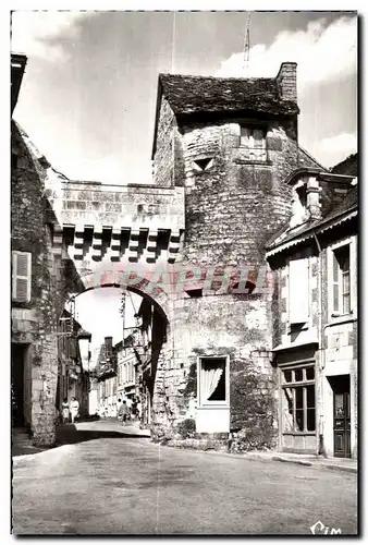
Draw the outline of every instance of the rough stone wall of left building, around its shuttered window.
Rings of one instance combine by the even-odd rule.
[[[45,196],[46,171],[12,123],[12,250],[32,253],[32,299],[12,305],[12,342],[27,344],[24,409],[37,445],[54,444],[57,325],[70,267],[52,253],[54,216]],[[73,289],[73,287],[71,287]]]

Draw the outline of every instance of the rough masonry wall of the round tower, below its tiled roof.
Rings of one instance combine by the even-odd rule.
[[[157,170],[173,159],[165,140],[172,138],[169,111],[163,101]],[[175,183],[185,186],[181,252],[185,265],[265,268],[265,244],[289,219],[291,194],[283,181],[297,167],[296,118],[261,120],[267,128],[263,162],[248,161],[240,147],[241,124],[247,122],[249,119],[234,117],[180,121],[177,169],[184,179]],[[177,150],[177,133],[175,146]],[[242,431],[247,449],[271,448],[277,441],[277,377],[270,353],[271,311],[277,298],[271,289],[266,294],[213,293],[209,290],[193,299],[184,295],[173,303],[172,350],[161,378],[161,411],[170,407],[172,425],[162,431],[162,421],[157,437],[177,439],[177,422],[187,417],[189,400],[197,397],[198,355],[228,355],[230,429]]]

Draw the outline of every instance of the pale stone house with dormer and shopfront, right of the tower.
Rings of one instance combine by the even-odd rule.
[[[297,204],[268,244],[284,451],[357,456],[356,162],[294,171],[286,183]]]

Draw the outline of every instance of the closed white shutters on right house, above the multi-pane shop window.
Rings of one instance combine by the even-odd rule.
[[[309,316],[308,259],[295,259],[289,264],[289,319],[291,324],[304,324]]]

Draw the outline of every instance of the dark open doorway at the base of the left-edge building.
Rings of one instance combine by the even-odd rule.
[[[12,426],[23,427],[24,419],[24,362],[26,344],[12,342]]]

